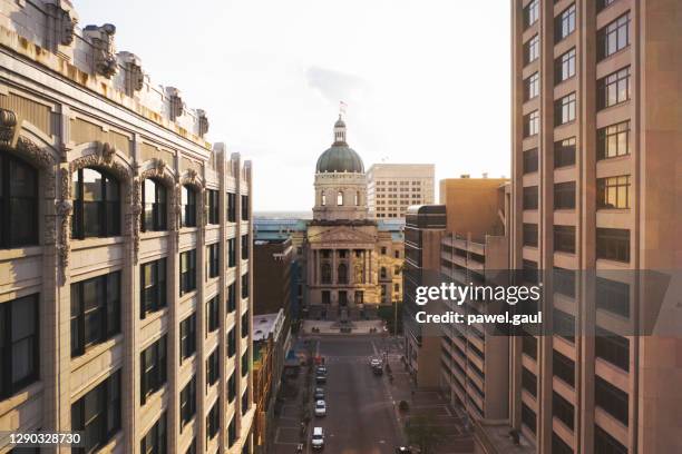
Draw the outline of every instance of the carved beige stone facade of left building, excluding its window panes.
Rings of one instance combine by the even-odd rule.
[[[205,112],[187,108],[177,89],[153,85],[134,55],[116,53],[114,26],[80,30],[76,21],[66,0],[0,1],[0,158],[25,162],[38,180],[37,218],[31,224],[37,240],[0,249],[3,312],[10,305],[20,310],[13,302],[26,296],[35,295],[38,302],[37,373],[25,386],[3,385],[0,431],[69,432],[80,399],[120,371],[115,405],[119,426],[98,448],[140,452],[143,438],[164,414],[168,452],[184,453],[193,443],[197,452],[250,452],[251,162],[230,155],[222,144],[208,144]],[[119,185],[117,235],[71,237],[75,178],[82,169],[95,169]],[[158,208],[166,225],[158,231],[140,228],[146,179],[167,194]],[[192,210],[182,205],[184,187],[196,197],[192,227],[181,223],[183,210]],[[218,197],[210,203],[210,194]],[[216,244],[214,273],[208,272],[207,246]],[[228,245],[243,249],[234,266]],[[187,276],[194,274],[195,285],[181,292],[185,277],[181,257],[189,250],[195,251],[195,266]],[[166,260],[164,307],[140,316],[142,265],[160,258]],[[119,327],[72,354],[78,338],[75,289],[113,273],[120,278],[119,313],[107,317],[119,318]],[[240,297],[227,309],[231,286]],[[218,319],[208,332],[207,302],[214,298]],[[195,352],[181,361],[185,340],[181,322],[191,314],[196,316]],[[0,336],[7,336],[6,329],[7,324],[0,327]],[[233,330],[236,345],[230,354],[227,338]],[[144,398],[140,355],[162,336],[166,336],[166,378]],[[12,344],[4,352],[17,356],[19,347]],[[206,359],[215,352],[221,357],[220,379],[207,385]],[[195,412],[181,424],[181,391],[192,379]],[[228,389],[232,382],[234,389]],[[215,436],[207,436],[206,416],[215,405],[220,427]],[[0,453],[9,452],[7,442],[0,440]]]

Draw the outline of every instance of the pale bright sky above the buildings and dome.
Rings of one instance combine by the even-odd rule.
[[[206,110],[210,141],[253,161],[256,211],[312,208],[340,101],[366,168],[510,175],[508,0],[74,3],[80,27],[114,23],[118,51]]]

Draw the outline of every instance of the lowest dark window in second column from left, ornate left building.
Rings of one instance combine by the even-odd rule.
[[[76,453],[92,453],[120,431],[120,369],[71,405],[71,430],[84,432],[84,446]]]

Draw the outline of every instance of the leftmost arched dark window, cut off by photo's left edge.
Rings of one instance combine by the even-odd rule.
[[[38,244],[38,171],[0,151],[0,248]]]

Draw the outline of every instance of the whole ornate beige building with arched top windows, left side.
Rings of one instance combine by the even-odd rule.
[[[114,26],[0,11],[0,452],[251,452],[251,164]]]

